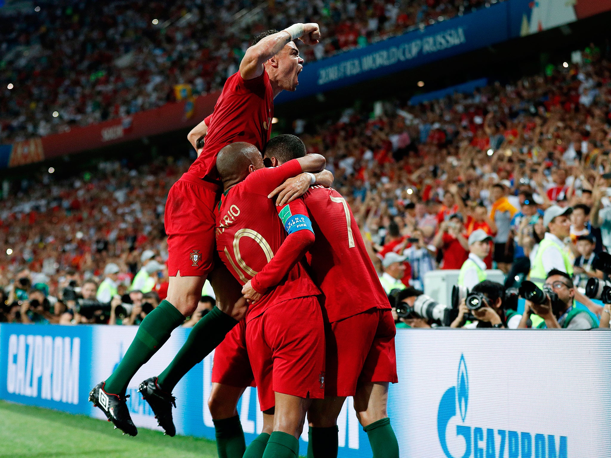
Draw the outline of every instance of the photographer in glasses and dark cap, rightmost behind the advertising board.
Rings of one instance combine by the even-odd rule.
[[[544,320],[539,324],[533,322],[537,329],[543,329],[544,326],[547,329],[577,330],[596,327],[596,322],[587,311],[574,307],[576,290],[571,275],[558,269],[552,269],[547,274],[543,292],[545,293],[543,304],[535,304],[531,300],[526,300],[524,314],[519,325],[520,329],[529,327],[529,319],[531,319],[532,314],[536,314]]]

